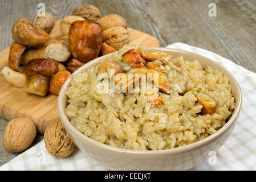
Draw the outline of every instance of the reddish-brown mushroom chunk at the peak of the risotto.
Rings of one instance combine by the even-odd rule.
[[[125,52],[122,57],[131,68],[145,67],[143,64],[143,59],[135,49],[130,49],[129,51]]]

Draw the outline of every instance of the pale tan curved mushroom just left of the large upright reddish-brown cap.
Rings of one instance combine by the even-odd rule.
[[[59,27],[62,35],[68,35],[71,24],[78,20],[85,20],[85,19],[82,18],[81,16],[75,16],[75,15],[65,16],[60,22],[60,27]]]

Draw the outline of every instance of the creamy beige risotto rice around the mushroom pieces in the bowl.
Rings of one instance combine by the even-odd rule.
[[[142,43],[131,42],[103,61],[119,63],[125,72],[131,67],[122,59],[124,52]],[[81,133],[98,142],[131,150],[164,150],[185,146],[216,133],[234,109],[234,97],[224,72],[202,68],[197,60],[175,57],[162,64],[170,83],[170,94],[152,90],[161,98],[160,106],[149,102],[148,94],[97,92],[97,66],[73,74],[68,88],[66,114]],[[193,89],[186,89],[186,75]],[[213,114],[202,114],[196,94],[204,93],[216,101]]]

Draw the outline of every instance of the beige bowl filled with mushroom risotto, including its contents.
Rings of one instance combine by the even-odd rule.
[[[241,90],[196,53],[131,42],[74,72],[58,98],[76,145],[109,169],[188,169],[231,134]]]

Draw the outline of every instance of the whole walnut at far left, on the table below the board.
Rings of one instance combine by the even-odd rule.
[[[3,147],[9,152],[25,151],[36,136],[35,124],[29,118],[9,121],[3,133]]]

